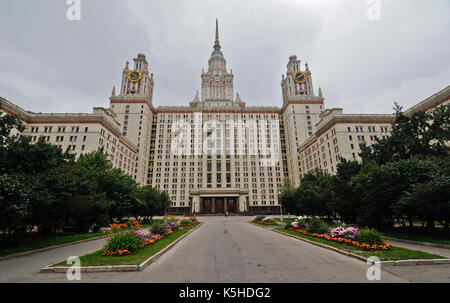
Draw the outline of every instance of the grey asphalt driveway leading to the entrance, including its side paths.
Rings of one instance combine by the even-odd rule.
[[[80,282],[374,282],[366,278],[369,265],[364,262],[263,230],[249,220],[203,217],[206,224],[143,271],[82,273]],[[58,254],[81,255],[101,248],[102,241],[0,261],[0,281],[72,283],[65,274],[38,271],[65,259]],[[385,267],[379,282],[449,282],[449,273],[447,265]]]

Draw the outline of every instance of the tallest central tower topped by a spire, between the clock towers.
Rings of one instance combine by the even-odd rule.
[[[205,71],[202,70],[201,75],[201,101],[215,101],[214,105],[221,105],[222,102],[233,101],[233,74],[227,71],[227,61],[223,57],[223,53],[220,48],[219,24],[216,19],[216,39],[214,41],[214,50],[208,61],[208,71],[205,73]]]

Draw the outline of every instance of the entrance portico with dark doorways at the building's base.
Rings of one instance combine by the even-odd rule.
[[[248,210],[248,190],[234,188],[202,188],[190,190],[192,212],[224,214]]]

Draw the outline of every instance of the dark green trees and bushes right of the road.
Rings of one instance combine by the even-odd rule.
[[[409,116],[397,104],[395,110],[391,136],[362,146],[362,163],[342,159],[335,176],[315,171],[298,188],[284,186],[285,209],[379,229],[439,222],[448,232],[450,106]]]

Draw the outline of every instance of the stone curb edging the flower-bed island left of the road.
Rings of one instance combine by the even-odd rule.
[[[164,247],[161,251],[157,252],[155,255],[149,257],[147,260],[142,262],[139,265],[101,265],[101,266],[80,266],[80,267],[73,267],[73,266],[55,266],[51,267],[52,264],[47,265],[46,267],[42,268],[39,272],[40,273],[66,273],[68,269],[72,268],[79,268],[80,272],[83,273],[91,273],[91,272],[130,272],[130,271],[141,271],[148,265],[150,265],[153,261],[158,259],[160,256],[162,256],[164,253],[166,253],[169,249],[175,246],[179,241],[184,239],[186,236],[191,234],[193,231],[199,229],[201,226],[203,226],[205,223],[201,222],[197,227],[190,229],[187,233],[176,239],[174,242],[170,243],[168,246]]]

